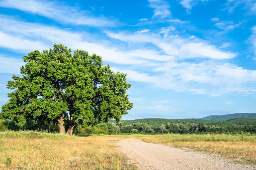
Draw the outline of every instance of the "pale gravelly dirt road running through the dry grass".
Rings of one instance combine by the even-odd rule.
[[[222,158],[220,155],[193,152],[139,139],[118,140],[116,145],[139,169],[256,169]]]

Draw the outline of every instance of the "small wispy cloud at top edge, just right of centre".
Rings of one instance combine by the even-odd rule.
[[[148,0],[150,8],[154,9],[153,17],[167,18],[170,17],[169,5],[163,0]]]

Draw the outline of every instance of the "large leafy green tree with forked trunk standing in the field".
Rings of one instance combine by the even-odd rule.
[[[1,117],[22,125],[26,120],[56,120],[60,133],[72,135],[77,123],[95,124],[109,118],[120,121],[133,104],[126,90],[126,74],[103,67],[102,58],[84,50],[54,45],[43,53],[35,50],[23,57],[20,76],[13,75],[7,88],[9,102]],[[67,131],[64,124],[67,124]]]

